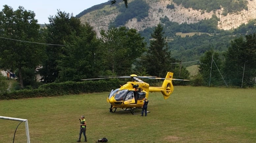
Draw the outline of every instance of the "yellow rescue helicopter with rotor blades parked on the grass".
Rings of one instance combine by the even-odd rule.
[[[104,77],[104,76],[103,76]],[[167,72],[165,78],[158,78],[152,76],[137,76],[132,74],[130,76],[112,76],[107,78],[96,78],[96,79],[109,79],[109,78],[131,78],[132,81],[127,82],[122,85],[120,88],[115,90],[112,89],[110,94],[108,95],[107,102],[111,104],[110,112],[120,112],[120,111],[131,111],[134,115],[134,110],[141,109],[143,105],[144,98],[148,98],[149,92],[161,92],[163,94],[163,98],[167,99],[173,92],[173,84],[172,80],[180,80],[173,79],[173,73]],[[161,87],[151,87],[148,83],[140,80],[141,79],[161,79],[164,80]],[[84,80],[96,80],[96,79],[84,79]],[[188,81],[188,80],[185,80]],[[116,111],[118,108],[122,110]],[[113,109],[115,109],[113,111]]]

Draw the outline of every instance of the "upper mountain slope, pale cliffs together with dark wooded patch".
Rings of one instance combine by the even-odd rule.
[[[147,7],[149,7],[148,11],[142,11],[143,16],[138,16],[140,13],[137,11]],[[132,8],[137,9],[121,10],[126,9],[122,0],[118,0],[114,5],[108,1],[82,11],[77,17],[82,22],[90,23],[98,33],[101,29],[108,29],[114,21],[115,23],[125,22],[124,26],[141,31],[147,27],[156,26],[160,18],[165,16],[172,22],[191,24],[209,19],[215,14],[219,18],[217,27],[224,30],[237,28],[242,23],[247,24],[249,20],[256,18],[256,1],[251,0],[130,0],[128,9]],[[122,21],[120,17],[125,20]]]

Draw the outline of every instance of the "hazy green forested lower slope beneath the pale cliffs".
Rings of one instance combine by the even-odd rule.
[[[161,24],[164,26],[165,36],[168,40],[168,46],[171,55],[182,61],[199,60],[200,57],[208,50],[219,52],[219,56],[224,60],[225,53],[230,46],[231,40],[242,35],[253,34],[256,32],[256,20],[251,20],[248,24],[242,24],[234,30],[221,30],[216,27],[218,18],[213,15],[211,19],[202,20],[195,24],[178,24],[170,22],[167,17],[161,19]],[[151,33],[154,27],[146,28],[140,31],[143,37],[146,37],[149,43]],[[176,35],[178,32],[183,32],[185,37]],[[198,34],[202,32],[205,34]],[[192,33],[192,35],[191,35]],[[187,65],[191,65],[190,63]]]

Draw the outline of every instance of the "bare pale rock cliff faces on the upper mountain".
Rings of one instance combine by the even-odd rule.
[[[130,0],[133,1],[133,0]],[[128,1],[128,3],[130,2]],[[197,23],[203,19],[209,19],[213,14],[220,19],[218,28],[229,30],[239,27],[241,24],[247,24],[249,20],[256,19],[256,0],[248,0],[248,10],[242,10],[236,13],[228,13],[226,16],[222,15],[223,8],[215,12],[206,12],[202,10],[193,10],[192,8],[184,8],[182,5],[176,5],[172,0],[144,0],[149,6],[148,17],[142,19],[140,22],[136,18],[130,19],[126,23],[126,27],[135,28],[141,31],[147,27],[154,27],[160,22],[160,18],[167,16],[170,21],[181,23]],[[175,9],[167,9],[167,5],[174,4]],[[161,9],[161,10],[159,10]],[[80,17],[82,23],[88,22],[94,27],[98,33],[101,29],[107,30],[111,21],[114,21],[120,12],[115,6],[106,5],[103,9],[97,9],[86,13]]]

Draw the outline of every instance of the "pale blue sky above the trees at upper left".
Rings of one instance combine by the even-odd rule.
[[[66,13],[73,13],[73,16],[76,16],[85,9],[107,1],[108,0],[1,0],[0,10],[2,11],[4,5],[10,6],[14,10],[22,6],[26,10],[35,12],[35,19],[38,20],[38,24],[44,24],[49,23],[48,17],[50,15],[54,16],[57,14],[57,9],[65,11]]]

